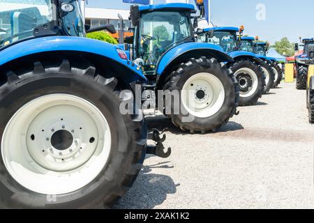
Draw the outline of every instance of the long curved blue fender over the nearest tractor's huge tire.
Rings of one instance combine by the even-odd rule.
[[[0,66],[3,64],[20,59],[23,56],[38,54],[43,52],[73,51],[96,54],[104,59],[112,61],[114,66],[121,67],[121,75],[126,77],[127,82],[133,82],[137,79],[146,81],[140,67],[127,59],[121,59],[117,45],[105,43],[99,40],[89,38],[80,38],[73,36],[50,36],[43,38],[34,38],[21,43],[17,43],[0,51]],[[119,74],[117,74],[119,75]]]

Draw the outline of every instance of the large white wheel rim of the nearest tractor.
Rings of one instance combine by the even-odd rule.
[[[3,132],[1,153],[6,169],[22,186],[57,195],[91,183],[105,167],[111,143],[107,120],[94,105],[74,95],[51,94],[31,100],[13,115]]]

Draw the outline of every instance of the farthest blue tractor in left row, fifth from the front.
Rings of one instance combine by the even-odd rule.
[[[258,38],[255,38],[255,40],[258,40]],[[254,42],[254,50],[255,54],[260,54],[262,56],[267,56],[267,52],[269,49],[269,44],[267,42],[262,41],[255,41]],[[281,80],[283,79],[283,66],[284,62],[278,61],[276,58],[272,58],[267,56],[269,61],[271,61],[271,68],[275,73],[275,79],[274,79],[274,89],[281,84]]]

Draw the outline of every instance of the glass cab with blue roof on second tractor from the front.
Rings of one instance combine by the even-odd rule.
[[[191,4],[167,3],[131,6],[130,18],[135,26],[133,60],[146,75],[154,75],[160,58],[173,47],[193,42]]]

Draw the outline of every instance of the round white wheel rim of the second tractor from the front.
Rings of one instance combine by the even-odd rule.
[[[225,89],[220,80],[207,72],[190,77],[181,91],[181,102],[193,116],[208,118],[216,114],[225,101]]]

